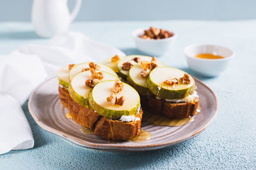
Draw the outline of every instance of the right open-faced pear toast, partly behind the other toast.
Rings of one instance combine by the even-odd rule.
[[[197,113],[199,98],[193,77],[164,66],[156,57],[126,56],[118,63],[118,74],[140,93],[144,110],[167,118],[188,118]]]

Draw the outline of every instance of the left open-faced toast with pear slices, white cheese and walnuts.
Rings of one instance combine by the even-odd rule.
[[[107,140],[140,135],[140,95],[100,63],[69,65],[58,71],[61,103],[74,121]]]

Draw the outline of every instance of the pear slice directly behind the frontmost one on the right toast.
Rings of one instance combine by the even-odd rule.
[[[151,96],[152,92],[147,87],[147,77],[141,77],[143,68],[140,63],[132,66],[129,70],[127,82],[140,93],[140,95]]]

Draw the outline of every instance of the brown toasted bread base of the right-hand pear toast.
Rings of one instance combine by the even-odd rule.
[[[171,103],[156,98],[141,96],[143,109],[154,114],[162,114],[166,118],[188,118],[197,114],[196,109],[199,106],[199,98],[195,98],[193,102]]]

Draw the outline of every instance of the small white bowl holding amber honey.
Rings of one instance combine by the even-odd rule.
[[[196,58],[197,54],[210,53],[223,56],[221,59]],[[214,77],[228,68],[234,52],[220,45],[189,45],[184,49],[189,68],[207,77]]]

